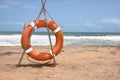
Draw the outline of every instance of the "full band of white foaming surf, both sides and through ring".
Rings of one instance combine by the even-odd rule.
[[[55,37],[51,36],[53,45]],[[47,35],[32,35],[31,44],[33,46],[49,45]],[[20,46],[21,35],[0,35],[0,46]],[[64,36],[64,45],[110,45],[119,46],[120,36]]]

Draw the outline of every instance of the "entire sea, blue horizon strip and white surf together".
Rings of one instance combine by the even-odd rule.
[[[21,46],[22,32],[0,32],[0,46]],[[50,45],[46,32],[34,32],[32,46]],[[52,44],[55,36],[51,33]],[[113,32],[64,32],[64,45],[79,46],[120,46],[120,33]]]

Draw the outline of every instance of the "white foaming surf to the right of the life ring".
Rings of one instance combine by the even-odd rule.
[[[120,36],[66,36],[66,45],[120,45]]]

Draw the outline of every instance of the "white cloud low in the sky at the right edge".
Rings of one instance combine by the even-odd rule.
[[[102,23],[108,24],[108,25],[115,25],[120,26],[120,19],[112,18],[112,19],[103,19]]]

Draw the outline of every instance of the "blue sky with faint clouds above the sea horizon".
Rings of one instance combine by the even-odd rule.
[[[40,9],[41,0],[0,0],[0,32],[22,31]],[[46,9],[64,32],[120,32],[120,0],[47,0]]]

